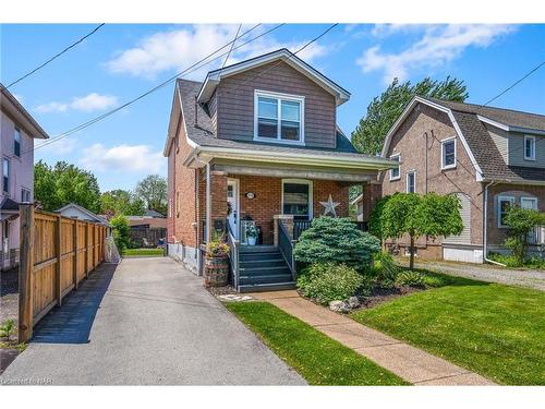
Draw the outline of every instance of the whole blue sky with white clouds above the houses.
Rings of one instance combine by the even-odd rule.
[[[254,25],[242,25],[240,33]],[[242,44],[275,25],[261,25]],[[294,51],[329,24],[287,24],[240,47],[227,64],[281,47]],[[0,25],[0,79],[9,84],[96,25]],[[239,25],[106,24],[10,88],[50,136],[100,116],[174,76],[231,41]],[[348,89],[338,124],[349,135],[393,77],[463,80],[469,103],[483,104],[545,60],[545,25],[340,24],[299,57]],[[227,50],[227,49],[226,49]],[[223,50],[225,51],[225,50]],[[223,58],[184,77],[202,81]],[[134,189],[166,176],[162,148],[173,83],[49,146],[35,160],[65,160],[92,171],[100,189]],[[545,67],[493,106],[545,113]],[[39,142],[38,142],[39,143]]]

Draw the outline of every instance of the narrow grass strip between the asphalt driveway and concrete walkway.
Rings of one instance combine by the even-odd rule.
[[[404,385],[389,371],[268,302],[227,308],[312,385]]]

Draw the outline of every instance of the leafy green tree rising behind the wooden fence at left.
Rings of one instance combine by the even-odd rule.
[[[75,203],[90,212],[100,210],[100,190],[95,176],[65,161],[53,167],[38,161],[34,167],[34,196],[46,210]]]

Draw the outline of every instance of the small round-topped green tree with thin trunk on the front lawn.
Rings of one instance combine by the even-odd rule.
[[[382,208],[380,230],[383,239],[397,239],[409,234],[410,263],[414,268],[414,241],[421,236],[458,236],[463,222],[460,200],[452,194],[396,193]]]

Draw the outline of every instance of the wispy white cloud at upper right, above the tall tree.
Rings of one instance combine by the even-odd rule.
[[[409,27],[414,28],[417,27]],[[383,70],[386,83],[395,76],[405,80],[411,70],[440,67],[460,57],[468,47],[485,48],[516,29],[514,26],[499,24],[449,24],[420,28],[424,29],[422,38],[403,51],[383,52],[380,46],[376,45],[365,50],[356,63],[363,72]],[[407,25],[380,27],[376,35],[389,35],[404,29],[408,29]]]

